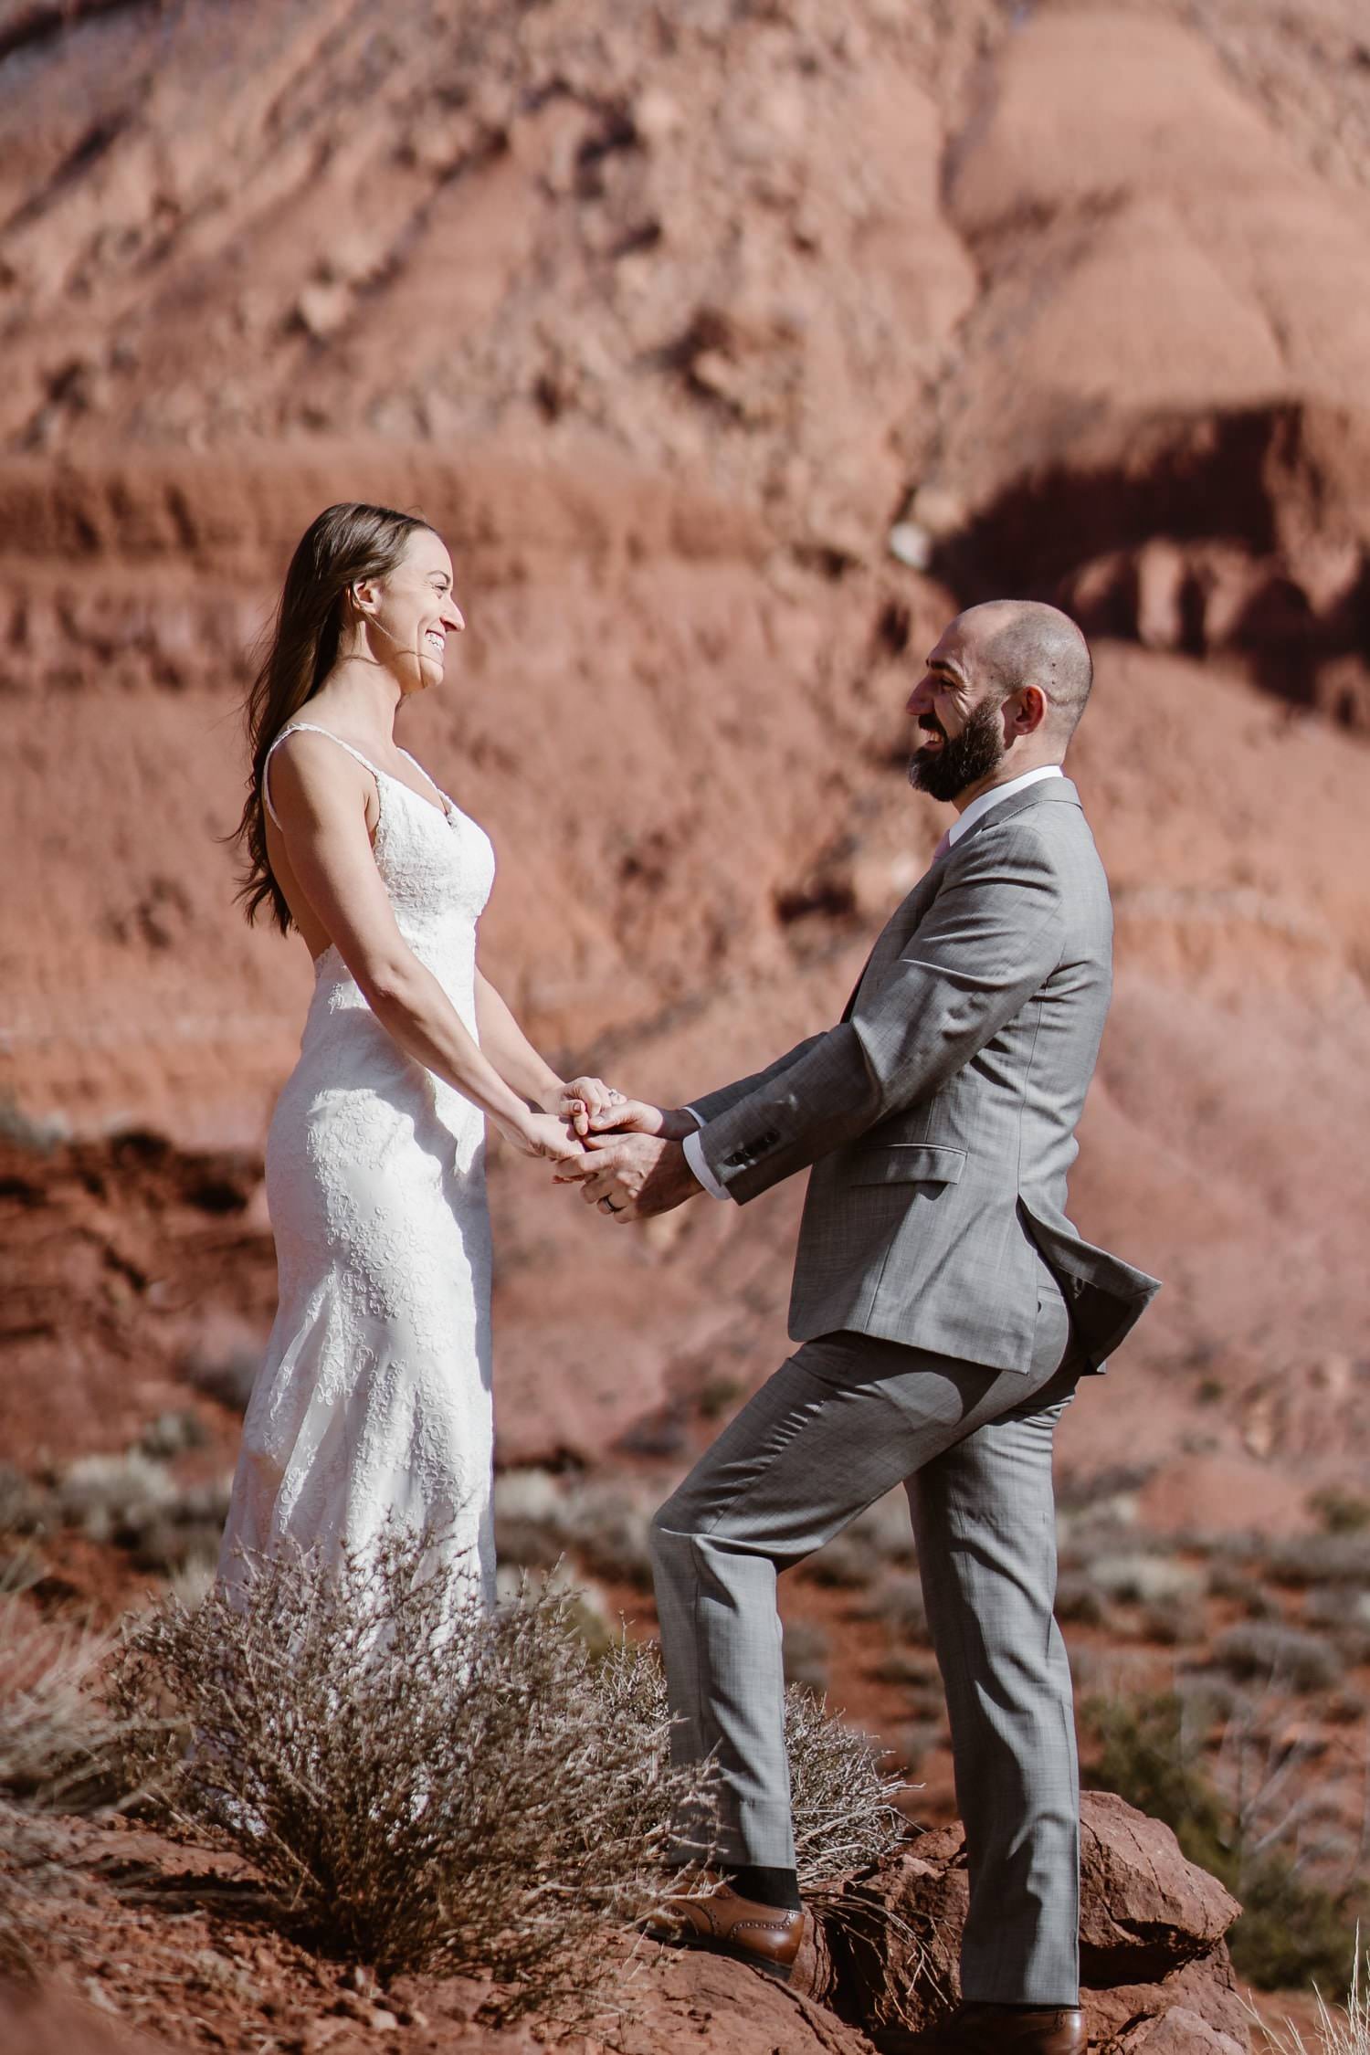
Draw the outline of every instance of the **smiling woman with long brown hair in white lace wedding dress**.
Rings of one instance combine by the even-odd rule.
[[[267,1136],[279,1311],[242,1428],[220,1580],[290,1545],[364,1556],[440,1531],[495,1580],[485,1122],[565,1161],[618,1093],[565,1083],[477,968],[495,859],[394,740],[464,623],[421,520],[333,506],[308,528],[246,701],[249,921],[314,960]]]

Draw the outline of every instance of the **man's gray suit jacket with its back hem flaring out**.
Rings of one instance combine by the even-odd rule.
[[[1066,1219],[1111,966],[1080,797],[1043,779],[914,886],[836,1028],[692,1101],[731,1198],[811,1165],[793,1340],[854,1330],[1027,1371],[1041,1254],[1103,1367],[1160,1288]]]

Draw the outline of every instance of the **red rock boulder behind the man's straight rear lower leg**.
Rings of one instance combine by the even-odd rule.
[[[1224,1938],[1241,1913],[1236,1899],[1185,1860],[1169,1827],[1111,1792],[1084,1794],[1080,1827],[1091,2049],[1245,2055],[1247,2016]],[[961,1995],[965,1907],[961,1829],[926,1833],[815,1909],[797,1983],[852,2024],[902,2016],[930,2026]]]

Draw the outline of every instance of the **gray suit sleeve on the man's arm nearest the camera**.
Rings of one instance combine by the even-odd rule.
[[[1017,820],[980,830],[850,1017],[705,1120],[705,1161],[729,1198],[746,1204],[939,1091],[1043,984],[1062,937],[1062,882],[1041,838]]]

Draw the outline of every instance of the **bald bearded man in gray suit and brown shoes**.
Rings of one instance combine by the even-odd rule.
[[[1111,984],[1111,908],[1062,773],[1093,666],[1052,606],[959,614],[908,711],[957,820],[836,1028],[559,1165],[637,1221],[809,1169],[795,1354],[653,1521],[680,1757],[715,1755],[719,1882],[674,1938],[789,1975],[801,1909],[776,1572],[904,1484],[969,1864],[963,2004],[906,2051],[1078,2055],[1078,1780],[1052,1617],[1052,1436],[1158,1288],[1066,1219]],[[622,1124],[622,1122],[620,1122]]]

